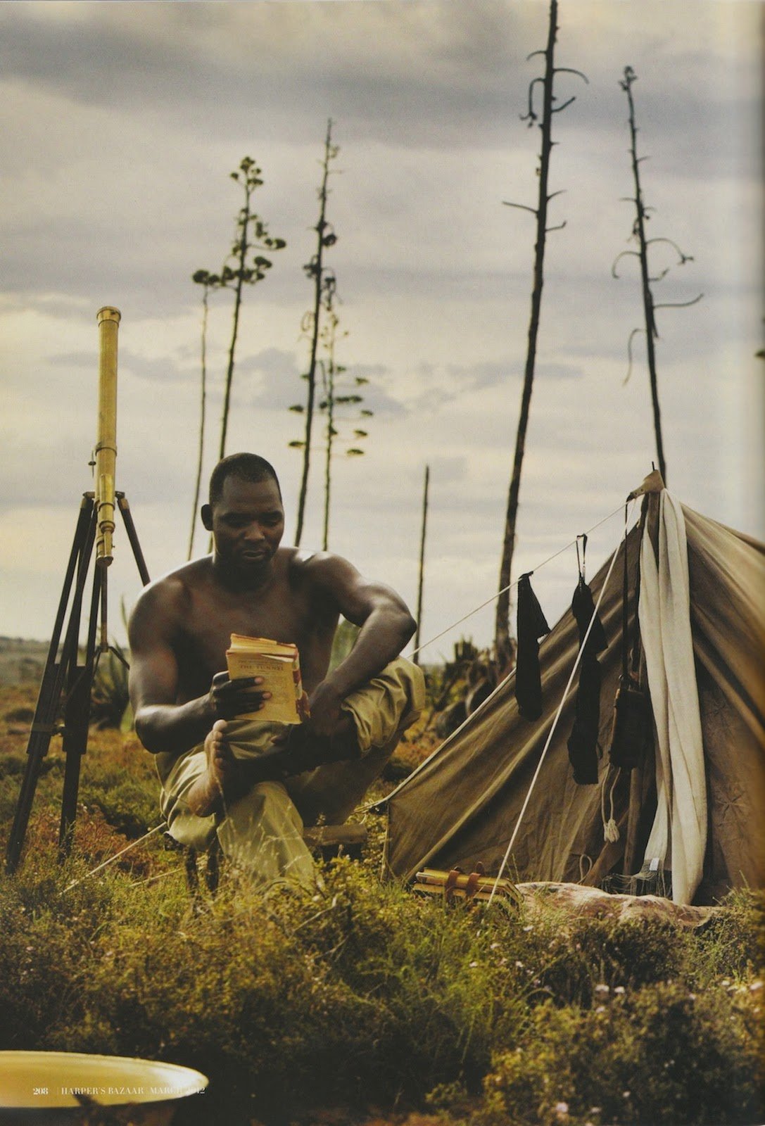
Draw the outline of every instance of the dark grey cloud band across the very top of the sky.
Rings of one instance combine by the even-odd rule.
[[[321,106],[343,118],[348,143],[372,129],[383,143],[406,146],[510,144],[539,69],[526,55],[544,45],[545,34],[541,8],[519,16],[516,5],[502,0],[128,2],[92,6],[90,15],[72,19],[39,18],[27,8],[3,6],[0,59],[7,75],[121,113],[125,105],[151,105],[153,111],[159,106],[183,128],[206,136],[211,127],[219,137],[239,136],[247,115],[260,137],[293,143],[314,140]],[[638,5],[622,10],[623,29],[595,44],[561,20],[560,63],[584,68],[590,79],[584,88],[560,75],[561,97],[577,97],[576,113],[561,116],[562,136],[585,129],[591,144],[593,134],[626,117],[617,87],[621,56],[631,46],[631,20],[641,17]],[[644,61],[632,60],[638,68]],[[662,74],[671,88],[661,95],[651,90],[651,62],[639,90],[646,138],[653,129],[670,137],[678,168],[701,160],[704,175],[712,175],[714,149],[729,143],[724,125],[737,97],[730,87],[728,101],[719,93],[723,62],[690,87],[671,87],[671,73]],[[747,108],[741,102],[741,116]]]

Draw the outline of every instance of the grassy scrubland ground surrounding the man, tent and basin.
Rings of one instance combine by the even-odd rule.
[[[36,695],[0,689],[2,843]],[[429,738],[429,736],[428,736]],[[380,881],[383,819],[314,894],[233,872],[195,904],[158,824],[150,757],[94,731],[77,847],[55,859],[54,741],[17,875],[0,878],[0,1048],[198,1067],[179,1126],[754,1124],[762,1105],[763,903],[699,931],[448,909]],[[429,748],[415,735],[401,769]]]

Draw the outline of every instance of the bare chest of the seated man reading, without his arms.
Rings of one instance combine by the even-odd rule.
[[[314,581],[315,560],[281,547],[267,581],[255,589],[223,584],[210,556],[160,580],[172,606],[167,640],[178,662],[177,703],[206,692],[225,670],[232,633],[296,644],[306,691],[323,680],[339,610]]]

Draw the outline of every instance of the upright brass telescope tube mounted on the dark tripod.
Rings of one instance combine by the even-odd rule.
[[[98,435],[96,438],[96,563],[112,562],[112,537],[115,517],[115,468],[117,461],[117,330],[119,310],[105,305],[96,314],[98,321]]]

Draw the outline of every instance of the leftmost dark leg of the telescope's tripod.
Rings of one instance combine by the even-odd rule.
[[[47,660],[43,671],[43,678],[37,696],[35,716],[32,723],[29,741],[27,743],[27,763],[21,780],[21,789],[16,805],[14,824],[8,840],[6,868],[8,873],[16,872],[21,856],[21,848],[26,837],[32,803],[37,788],[37,779],[47,753],[51,735],[54,733],[56,712],[61,700],[61,691],[64,682],[66,669],[72,661],[77,662],[77,641],[79,633],[80,610],[82,605],[82,590],[87,577],[87,560],[92,551],[94,536],[96,531],[94,519],[94,500],[90,493],[82,498],[78,517],[72,549],[69,557],[64,586],[59,602],[59,611],[53,628],[53,636],[48,647]],[[78,566],[79,564],[79,566]],[[59,642],[63,628],[66,606],[74,578],[77,574],[77,587],[71,610],[69,627],[66,629],[61,660],[57,661]]]

